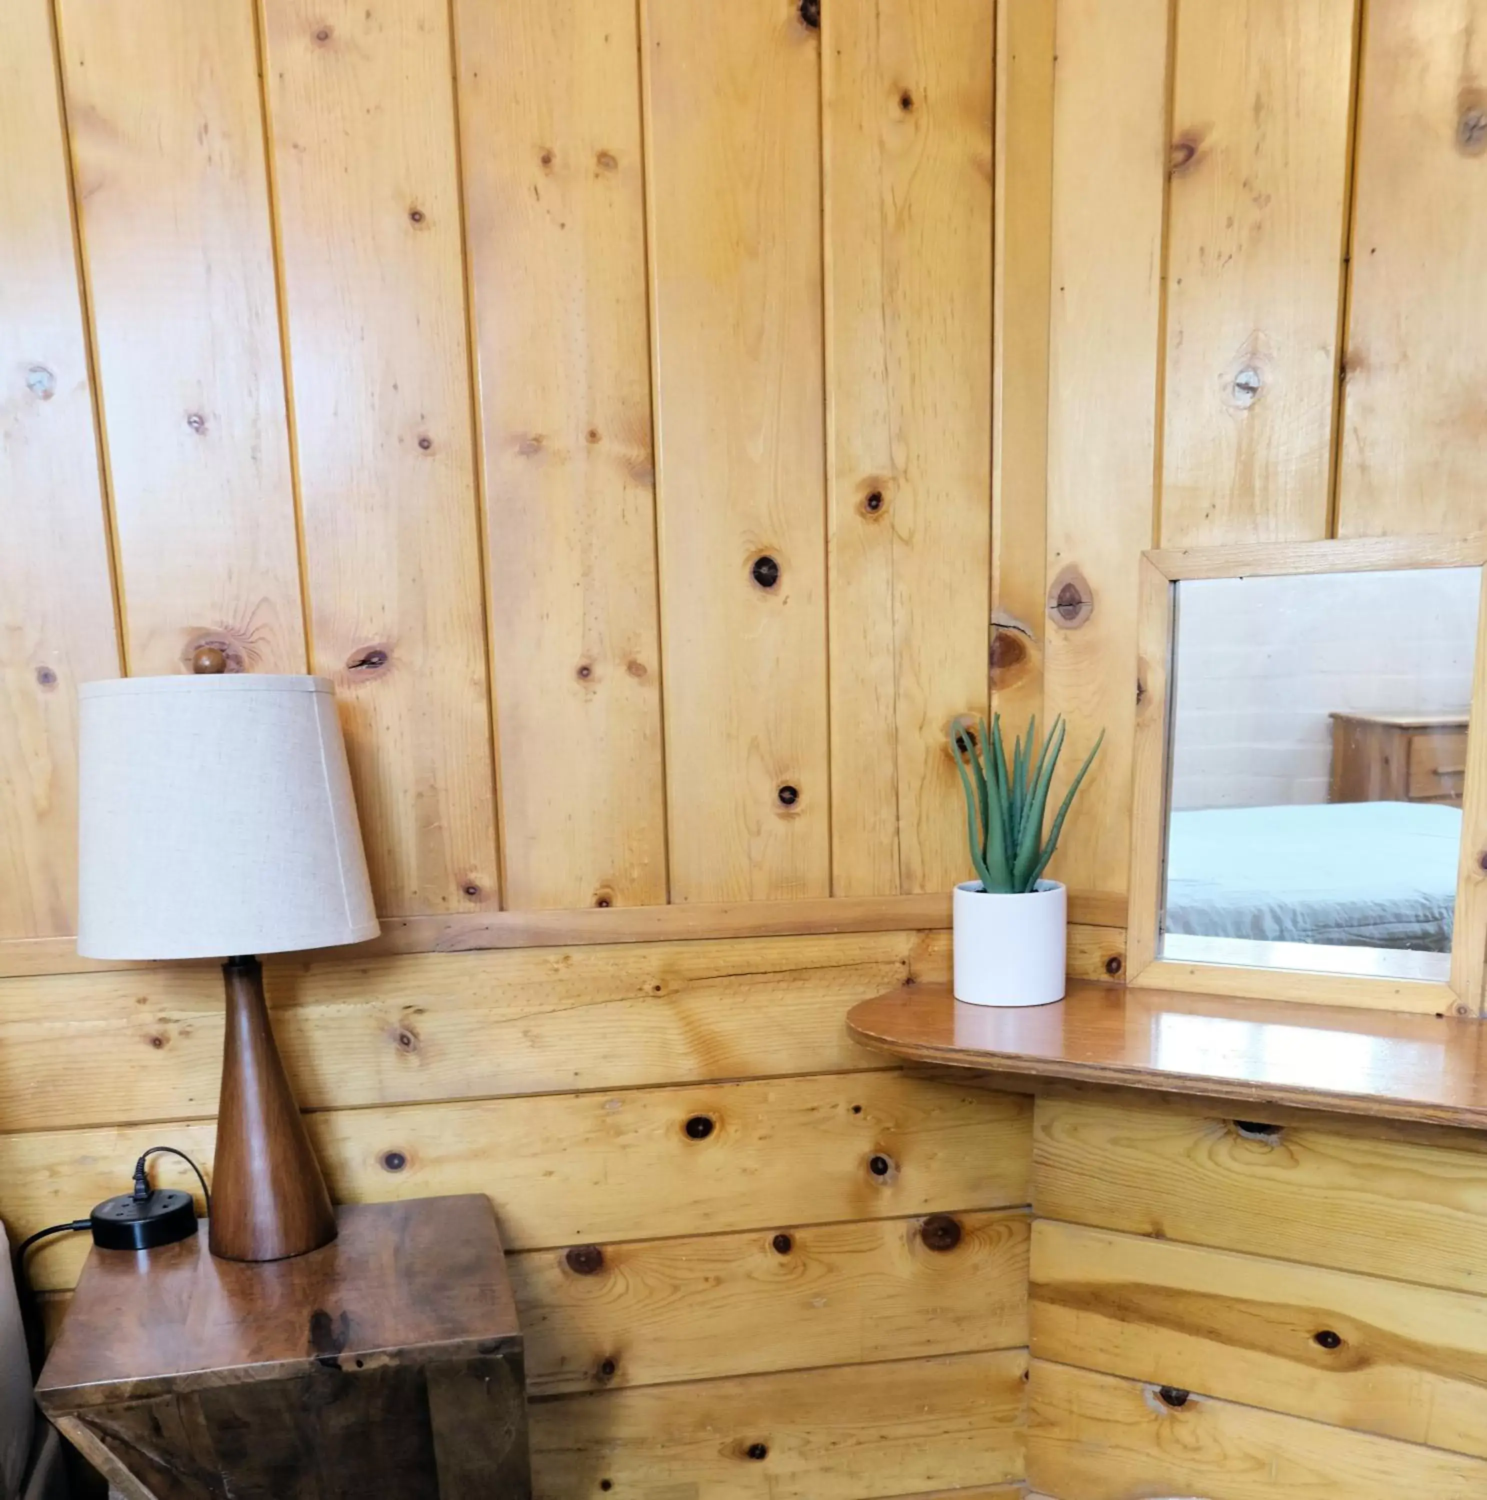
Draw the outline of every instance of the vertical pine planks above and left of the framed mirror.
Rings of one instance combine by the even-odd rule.
[[[1487,4],[1052,8],[1047,534],[999,566],[1107,732],[1055,872],[1121,898],[1139,550],[1487,525]]]

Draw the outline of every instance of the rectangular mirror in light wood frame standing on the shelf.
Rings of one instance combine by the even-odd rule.
[[[1487,537],[1145,554],[1128,982],[1478,1016]]]

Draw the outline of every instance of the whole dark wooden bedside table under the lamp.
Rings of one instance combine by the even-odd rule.
[[[483,1197],[336,1209],[324,1250],[93,1250],[42,1410],[128,1500],[528,1500],[516,1305]]]

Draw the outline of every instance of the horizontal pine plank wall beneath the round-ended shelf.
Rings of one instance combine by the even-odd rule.
[[[1482,1180],[1479,1132],[1040,1098],[1032,1486],[1479,1494]]]

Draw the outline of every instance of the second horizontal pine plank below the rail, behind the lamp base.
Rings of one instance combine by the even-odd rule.
[[[507,1250],[1028,1202],[1029,1102],[897,1072],[336,1110],[309,1116],[338,1203],[485,1192]],[[689,1122],[693,1124],[689,1134]],[[0,1136],[12,1242],[125,1190],[147,1146],[212,1161],[210,1122]],[[173,1158],[158,1185],[192,1185]],[[32,1256],[75,1282],[86,1236]]]

